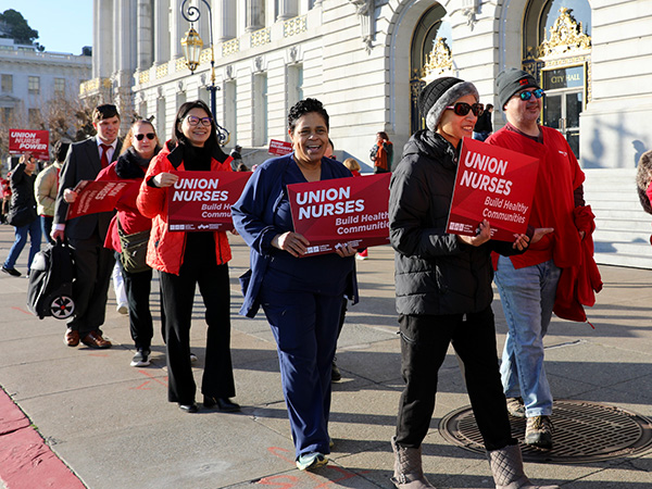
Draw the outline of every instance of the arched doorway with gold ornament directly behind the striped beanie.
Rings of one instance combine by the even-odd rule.
[[[416,100],[426,85],[428,66],[446,64],[450,59],[451,26],[443,21],[446,9],[436,3],[421,16],[414,27],[410,47],[410,130],[416,133],[425,127],[418,113]]]

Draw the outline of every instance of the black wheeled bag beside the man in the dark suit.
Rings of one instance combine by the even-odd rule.
[[[27,308],[42,319],[66,319],[75,312],[73,279],[75,264],[67,242],[57,240],[34,256],[29,269]]]

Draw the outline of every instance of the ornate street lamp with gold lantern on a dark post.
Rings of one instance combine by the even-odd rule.
[[[215,111],[215,98],[217,90],[220,90],[220,87],[215,85],[215,52],[213,50],[213,12],[211,10],[210,3],[206,0],[201,0],[201,2],[204,5],[206,5],[206,9],[209,9],[209,35],[211,43],[211,85],[206,85],[206,89],[211,92],[211,111],[213,112],[213,117],[215,120],[214,122],[217,130],[217,138],[220,140],[220,145],[224,146],[229,140],[229,133],[220,124],[217,124],[216,121],[217,115]],[[184,55],[186,58],[186,65],[188,66],[188,70],[190,70],[190,73],[195,73],[195,70],[197,70],[197,67],[200,64],[203,41],[201,40],[201,37],[199,37],[197,30],[195,30],[195,28],[192,27],[192,24],[199,21],[201,12],[195,5],[188,5],[188,8],[186,8],[186,3],[188,3],[188,0],[184,0],[184,2],[181,3],[181,15],[186,21],[190,23],[190,28],[186,33],[186,36],[184,36],[184,38],[181,39],[181,47],[184,49]]]

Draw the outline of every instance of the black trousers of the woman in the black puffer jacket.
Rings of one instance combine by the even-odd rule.
[[[498,366],[491,306],[466,314],[401,315],[401,367],[405,389],[399,403],[397,442],[418,448],[435,410],[437,376],[453,344],[487,450],[514,444]]]

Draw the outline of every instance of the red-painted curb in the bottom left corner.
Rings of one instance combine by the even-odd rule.
[[[86,486],[52,452],[30,422],[0,389],[0,479],[10,489]]]

